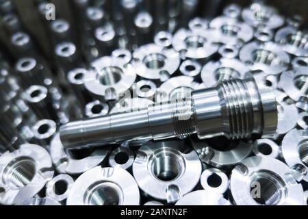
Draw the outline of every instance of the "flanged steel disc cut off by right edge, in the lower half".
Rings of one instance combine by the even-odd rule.
[[[287,165],[300,172],[296,180],[308,181],[308,129],[289,131],[282,141],[282,153]]]

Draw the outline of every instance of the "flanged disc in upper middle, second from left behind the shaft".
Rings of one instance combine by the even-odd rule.
[[[133,67],[145,79],[164,82],[179,68],[179,53],[157,44],[146,44],[133,52]]]

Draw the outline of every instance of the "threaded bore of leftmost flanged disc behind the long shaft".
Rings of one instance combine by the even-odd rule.
[[[101,74],[99,75],[99,81],[103,85],[111,86],[120,81],[122,74],[123,71],[118,67],[105,67],[101,70]]]

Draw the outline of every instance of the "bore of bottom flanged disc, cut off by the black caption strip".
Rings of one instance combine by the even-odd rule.
[[[111,182],[103,182],[94,185],[94,188],[86,192],[87,205],[120,205],[120,189]]]

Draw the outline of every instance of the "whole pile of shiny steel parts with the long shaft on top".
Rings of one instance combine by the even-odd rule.
[[[300,17],[76,0],[75,27],[36,2],[51,60],[0,1],[1,204],[307,205]]]

